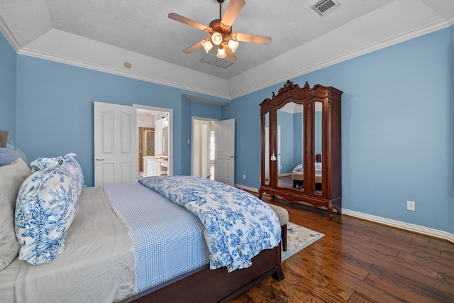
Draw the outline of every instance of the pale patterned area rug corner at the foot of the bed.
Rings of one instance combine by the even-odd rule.
[[[323,236],[325,236],[323,233],[289,222],[287,224],[287,251],[281,251],[281,260],[283,261],[298,253],[299,250],[309,246]]]

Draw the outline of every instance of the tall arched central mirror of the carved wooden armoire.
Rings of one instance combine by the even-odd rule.
[[[304,106],[287,102],[277,110],[277,186],[304,191]]]

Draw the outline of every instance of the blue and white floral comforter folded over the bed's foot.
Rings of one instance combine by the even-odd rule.
[[[279,245],[277,215],[248,192],[201,177],[145,177],[139,182],[199,217],[211,269],[248,268],[261,250]]]

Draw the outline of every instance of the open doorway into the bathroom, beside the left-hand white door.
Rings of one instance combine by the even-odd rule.
[[[141,106],[136,109],[138,175],[171,175],[172,111]]]

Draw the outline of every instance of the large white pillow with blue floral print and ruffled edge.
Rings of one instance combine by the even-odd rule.
[[[15,214],[19,259],[33,265],[51,263],[65,250],[65,236],[79,207],[82,185],[61,160],[33,161],[33,174],[19,189]]]

